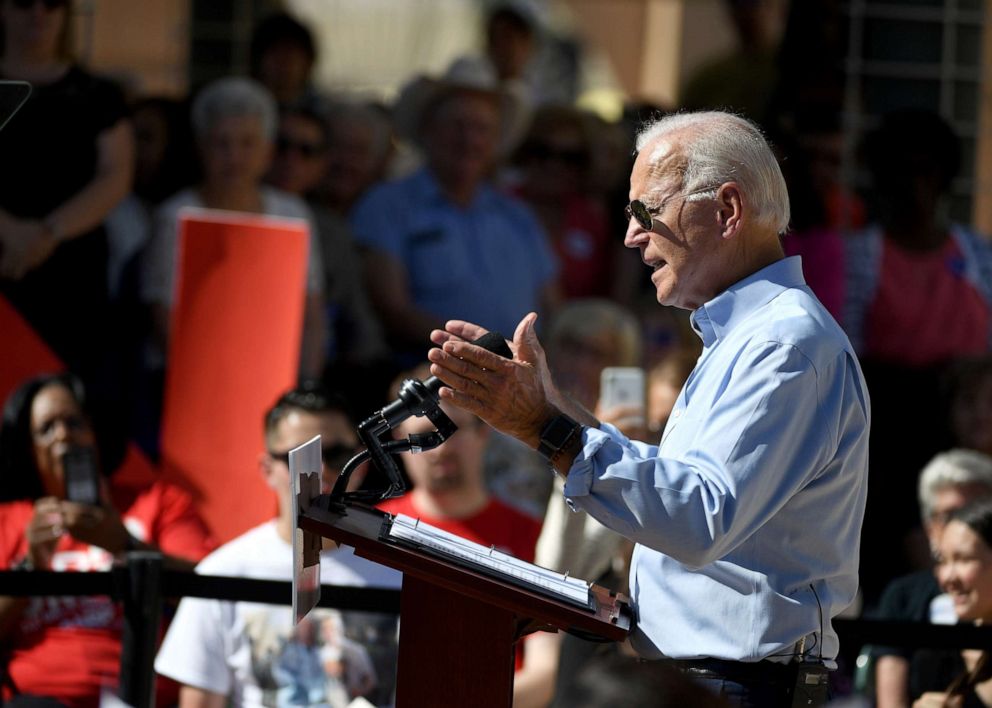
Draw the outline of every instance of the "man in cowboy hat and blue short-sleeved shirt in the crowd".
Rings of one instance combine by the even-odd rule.
[[[393,346],[423,359],[446,319],[512,329],[559,299],[547,235],[523,203],[489,182],[517,141],[526,110],[485,62],[457,60],[441,78],[421,77],[401,93],[397,132],[423,152],[424,166],[372,189],[351,226],[366,252],[366,283]]]

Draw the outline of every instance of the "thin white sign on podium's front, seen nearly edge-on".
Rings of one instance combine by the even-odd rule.
[[[290,496],[293,498],[293,617],[307,616],[320,600],[322,539],[299,526],[300,513],[320,494],[320,436],[289,451]]]

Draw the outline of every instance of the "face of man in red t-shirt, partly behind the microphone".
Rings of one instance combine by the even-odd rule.
[[[474,492],[482,484],[482,455],[489,428],[461,408],[442,405],[441,409],[458,426],[458,432],[433,450],[404,453],[403,462],[414,487],[431,495],[456,497]],[[425,417],[408,418],[397,434],[429,433],[434,424]]]

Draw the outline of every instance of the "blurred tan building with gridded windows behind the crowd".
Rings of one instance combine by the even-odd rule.
[[[211,78],[247,70],[254,22],[285,8],[318,38],[316,80],[323,90],[389,100],[418,71],[439,72],[478,50],[491,0],[81,0],[77,46],[98,71],[135,95],[184,95]],[[686,83],[739,46],[724,0],[531,0],[543,27],[541,80],[607,119],[627,99],[681,105]],[[992,232],[989,13],[983,0],[754,0],[765,6],[765,41],[789,27],[807,56],[791,68],[795,89],[812,65],[836,60],[842,71],[845,164],[881,114],[905,107],[939,112],[964,141],[952,216]],[[818,42],[800,40],[803,24]],[[829,36],[823,36],[829,35]],[[808,38],[807,38],[808,39]],[[789,37],[785,37],[789,41]],[[826,42],[827,45],[822,44]],[[814,46],[819,45],[819,46]],[[832,56],[831,56],[832,55]],[[856,185],[853,167],[846,179]]]

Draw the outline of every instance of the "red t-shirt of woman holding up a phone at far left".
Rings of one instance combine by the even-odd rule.
[[[0,504],[0,568],[27,553],[24,530],[33,516],[33,501]],[[122,518],[135,538],[170,555],[198,561],[216,545],[190,495],[166,482],[138,494]],[[52,570],[101,571],[112,563],[109,552],[66,534]],[[109,597],[31,598],[4,642],[10,682],[21,693],[50,696],[72,708],[98,706],[101,689],[116,690],[118,684],[122,621],[121,606]],[[3,696],[9,698],[10,689]]]

